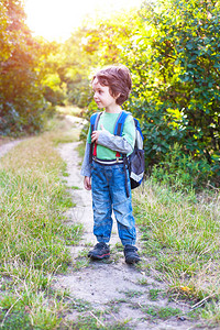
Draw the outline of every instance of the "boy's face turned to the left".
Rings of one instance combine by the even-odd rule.
[[[106,108],[110,109],[112,106],[117,105],[117,98],[112,97],[109,90],[109,86],[103,86],[99,82],[97,78],[92,81],[94,99],[99,109]]]

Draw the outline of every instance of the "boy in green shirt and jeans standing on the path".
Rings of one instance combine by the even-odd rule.
[[[122,136],[113,135],[114,125],[131,91],[131,76],[125,66],[111,66],[96,74],[92,79],[94,99],[99,109],[105,109],[100,116],[98,128],[88,132],[81,175],[84,186],[92,193],[94,234],[98,243],[88,254],[92,260],[110,256],[109,241],[112,229],[112,210],[114,212],[118,232],[124,246],[128,264],[141,258],[135,248],[136,231],[132,215],[131,186],[129,173],[123,167],[123,154],[131,154],[135,141],[135,128],[132,116],[128,116]],[[92,163],[89,162],[90,147],[94,144]],[[128,180],[129,197],[125,190]]]

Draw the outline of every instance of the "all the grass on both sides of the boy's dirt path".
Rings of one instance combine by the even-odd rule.
[[[128,290],[127,300],[110,301],[107,310],[98,312],[87,301],[67,299],[65,293],[52,289],[54,275],[69,265],[79,270],[89,263],[86,250],[74,262],[70,258],[68,245],[77,244],[82,229],[65,224],[65,211],[75,204],[61,178],[67,175],[66,164],[54,148],[78,141],[78,128],[59,114],[44,134],[23,141],[1,158],[0,322],[4,330],[129,329],[128,320],[109,322],[109,318],[141,292]],[[146,257],[136,270],[165,282],[169,301],[188,302],[191,318],[220,323],[219,191],[186,196],[148,180],[134,190],[133,201],[141,253]],[[113,248],[113,262],[122,252],[121,244]],[[139,284],[148,285],[145,278]],[[164,295],[157,288],[147,292],[153,301]],[[153,321],[182,316],[169,306],[138,304],[136,308]],[[66,315],[73,311],[81,315],[68,321]]]

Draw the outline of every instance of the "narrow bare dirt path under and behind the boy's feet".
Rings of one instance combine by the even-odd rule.
[[[136,330],[198,329],[187,318],[175,316],[176,308],[185,312],[188,308],[168,301],[163,294],[166,289],[163,283],[156,280],[154,276],[148,276],[140,267],[125,264],[123,253],[119,248],[120,241],[116,224],[110,242],[112,250],[110,260],[88,261],[87,252],[96,243],[92,234],[91,194],[82,187],[82,177],[79,174],[80,160],[75,150],[76,146],[77,143],[63,144],[59,153],[67,163],[69,174],[67,178],[65,177],[67,186],[79,187],[77,190],[72,190],[73,200],[77,206],[69,210],[67,216],[69,221],[80,221],[85,228],[80,244],[70,248],[73,263],[76,264],[78,261],[81,268],[72,267],[67,275],[57,276],[56,286],[68,289],[76,305],[78,304],[76,301],[91,304],[90,311],[87,310],[84,315],[97,318],[99,326],[128,321],[128,329]],[[140,239],[138,241],[140,242]],[[144,262],[147,263],[147,260]],[[96,316],[96,310],[101,311],[99,318]],[[166,312],[169,311],[173,311],[172,316],[165,319]],[[76,308],[68,315],[68,318],[77,320],[78,316],[79,311]]]

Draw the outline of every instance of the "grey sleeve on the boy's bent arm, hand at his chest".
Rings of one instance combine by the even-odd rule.
[[[98,144],[123,154],[131,154],[135,142],[135,127],[131,116],[124,122],[122,136],[117,136],[108,131],[100,131]]]

